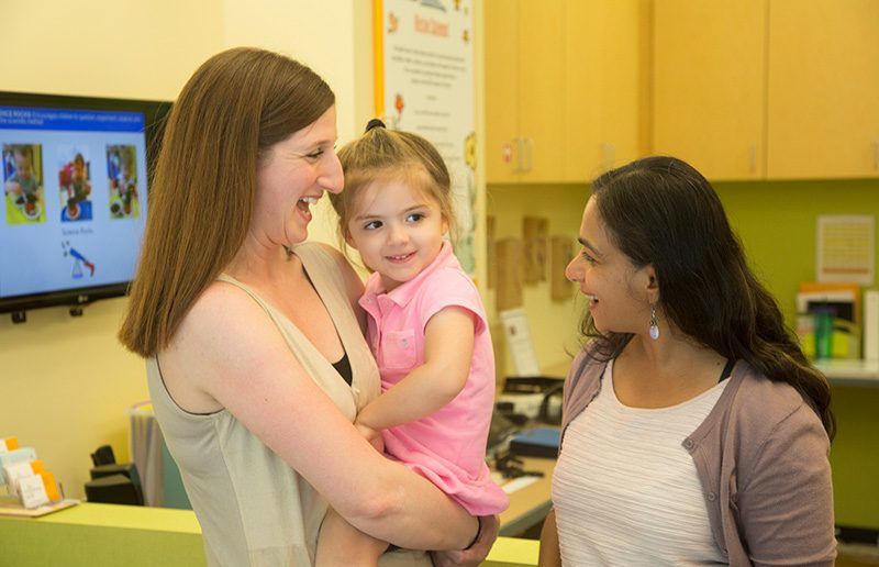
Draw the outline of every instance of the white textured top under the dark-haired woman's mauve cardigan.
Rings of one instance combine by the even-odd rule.
[[[726,383],[670,408],[628,408],[608,364],[600,392],[565,432],[553,477],[563,565],[726,563],[681,445]]]

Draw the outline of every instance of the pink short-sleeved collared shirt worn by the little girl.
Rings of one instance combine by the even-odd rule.
[[[393,458],[431,480],[474,515],[496,514],[509,499],[489,477],[486,441],[494,405],[494,354],[476,286],[446,242],[415,278],[385,292],[380,276],[366,282],[360,305],[368,313],[367,340],[381,374],[381,390],[393,388],[424,364],[424,327],[447,307],[475,315],[474,355],[464,389],[426,418],[381,432]]]

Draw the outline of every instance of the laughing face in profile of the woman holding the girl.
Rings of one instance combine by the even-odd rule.
[[[251,232],[263,242],[290,246],[308,237],[310,207],[324,191],[342,190],[335,107],[269,148],[256,174]]]

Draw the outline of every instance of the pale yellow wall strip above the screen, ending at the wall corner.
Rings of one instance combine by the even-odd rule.
[[[194,66],[222,47],[222,14],[215,4],[3,2],[2,88],[171,99]]]

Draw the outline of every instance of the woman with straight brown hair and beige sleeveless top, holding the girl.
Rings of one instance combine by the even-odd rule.
[[[487,552],[497,530],[352,423],[379,394],[363,285],[304,243],[310,207],[343,187],[335,142],[327,85],[253,48],[204,63],[166,124],[120,338],[147,360],[211,565],[310,565],[327,504],[409,549]]]

